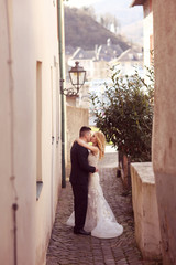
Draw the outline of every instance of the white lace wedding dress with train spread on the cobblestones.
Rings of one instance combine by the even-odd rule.
[[[99,155],[94,156],[91,152],[89,153],[89,165],[97,167],[98,160]],[[67,225],[75,225],[74,212],[67,220]],[[117,222],[112,210],[103,197],[99,173],[97,172],[89,174],[88,208],[84,229],[91,232],[92,236],[99,239],[112,239],[123,233],[123,226]]]

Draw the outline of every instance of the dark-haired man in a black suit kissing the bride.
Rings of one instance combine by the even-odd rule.
[[[82,126],[79,130],[79,138],[86,142],[90,141],[91,128]],[[74,193],[74,211],[75,211],[75,234],[90,235],[89,232],[84,230],[87,203],[88,203],[88,176],[89,172],[97,171],[95,167],[88,163],[88,149],[74,142],[70,149],[70,183]]]

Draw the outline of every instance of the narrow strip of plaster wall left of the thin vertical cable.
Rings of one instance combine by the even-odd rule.
[[[6,1],[0,1],[0,264],[13,264],[13,218],[12,203],[14,189],[12,186],[12,135],[10,93],[10,68],[8,24]],[[9,19],[11,20],[11,13]],[[11,24],[10,24],[11,30]]]

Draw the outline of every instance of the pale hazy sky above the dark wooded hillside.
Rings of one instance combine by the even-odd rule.
[[[92,6],[97,18],[110,13],[116,15],[121,26],[121,34],[129,40],[142,43],[143,8],[141,6],[130,8],[133,0],[68,0],[66,6],[81,8]]]

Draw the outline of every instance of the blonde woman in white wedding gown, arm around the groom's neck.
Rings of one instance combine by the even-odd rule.
[[[77,139],[80,146],[89,149],[89,165],[97,167],[98,160],[105,156],[106,137],[101,131],[97,131],[91,137],[92,146],[81,139]],[[67,225],[75,225],[74,212],[67,220]],[[88,208],[86,215],[85,230],[91,232],[92,236],[99,239],[112,239],[123,233],[108,202],[106,201],[100,186],[99,173],[89,173],[88,184]]]

